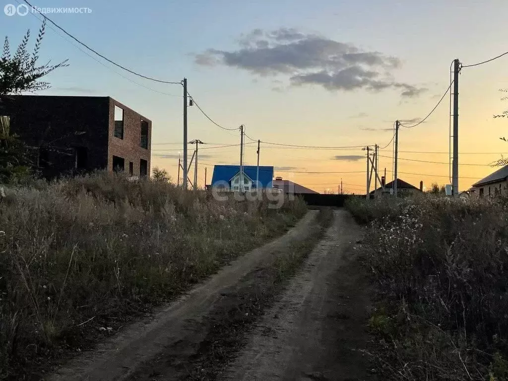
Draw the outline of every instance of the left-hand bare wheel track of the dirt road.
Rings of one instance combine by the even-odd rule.
[[[317,211],[309,211],[284,236],[250,251],[224,267],[207,281],[155,313],[149,322],[125,328],[110,340],[99,344],[92,353],[71,360],[47,381],[118,381],[131,377],[142,364],[156,359],[168,345],[185,343],[189,335],[199,334],[203,317],[220,299],[220,294],[255,270],[273,253],[295,242],[305,241],[315,226]],[[181,351],[185,351],[183,345]]]

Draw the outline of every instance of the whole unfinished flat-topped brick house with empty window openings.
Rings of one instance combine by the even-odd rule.
[[[110,97],[8,96],[0,102],[11,133],[46,177],[94,169],[150,173],[152,122]]]

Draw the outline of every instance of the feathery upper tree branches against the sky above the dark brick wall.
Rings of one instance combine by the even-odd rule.
[[[30,39],[30,29],[26,31],[23,40],[19,44],[14,55],[11,54],[9,38],[6,36],[4,51],[0,58],[0,96],[8,94],[19,94],[23,91],[39,91],[50,87],[48,82],[40,79],[53,70],[69,66],[67,59],[57,65],[50,65],[50,62],[38,66],[39,50],[44,37],[46,20],[39,29],[39,35],[31,54],[27,50]]]

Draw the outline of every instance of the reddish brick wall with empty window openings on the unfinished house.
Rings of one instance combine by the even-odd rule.
[[[123,139],[113,136],[115,105],[123,109]],[[141,148],[141,119],[148,122],[148,149]],[[150,175],[150,147],[152,140],[152,121],[114,99],[109,99],[109,141],[108,171],[113,170],[113,155],[123,157],[125,172],[129,172],[129,162],[134,163],[134,176],[139,176],[140,159],[148,163],[147,174]]]

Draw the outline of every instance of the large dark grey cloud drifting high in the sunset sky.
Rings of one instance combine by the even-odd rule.
[[[415,98],[427,91],[391,77],[401,66],[397,57],[362,51],[352,44],[298,29],[254,29],[237,42],[236,50],[208,49],[195,54],[195,62],[225,65],[262,77],[284,76],[293,86],[315,84],[330,91],[396,89],[403,98]]]

